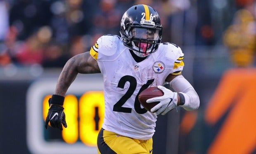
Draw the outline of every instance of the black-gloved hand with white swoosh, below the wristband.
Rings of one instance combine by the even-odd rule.
[[[50,100],[49,100],[50,102]],[[62,105],[57,104],[51,104],[50,109],[48,111],[46,120],[45,120],[45,128],[47,129],[48,123],[50,121],[50,124],[53,128],[59,128],[61,131],[63,130],[62,125],[66,128],[66,116],[64,113],[64,108]]]

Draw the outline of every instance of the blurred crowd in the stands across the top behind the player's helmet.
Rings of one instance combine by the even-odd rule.
[[[121,16],[135,4],[160,14],[162,42],[180,47],[224,42],[239,53],[232,56],[239,65],[253,61],[247,64],[241,55],[243,48],[247,58],[255,50],[254,0],[0,0],[0,67],[63,67],[101,35],[119,35]]]

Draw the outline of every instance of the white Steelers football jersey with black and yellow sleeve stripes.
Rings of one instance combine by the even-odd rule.
[[[137,63],[120,37],[104,35],[90,54],[97,60],[104,79],[102,128],[139,140],[152,138],[157,116],[140,105],[138,94],[149,86],[163,85],[169,74],[183,70],[180,47],[161,43],[156,52]]]

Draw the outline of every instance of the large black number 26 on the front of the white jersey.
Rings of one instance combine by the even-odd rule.
[[[124,112],[124,113],[132,112],[131,108],[122,107],[122,106],[133,95],[133,93],[137,87],[137,80],[135,79],[135,77],[130,76],[130,75],[123,76],[123,77],[121,77],[120,81],[118,82],[117,87],[124,88],[124,85],[126,84],[126,82],[129,82],[130,86],[129,86],[128,90],[126,91],[126,93],[123,95],[123,97],[121,97],[120,100],[116,102],[116,104],[113,107],[113,111]],[[149,85],[152,84],[153,82],[154,82],[154,79],[149,79],[146,84],[141,86],[140,91],[137,93],[137,96],[135,97],[134,108],[138,114],[144,114],[147,112],[147,110],[145,108],[140,107],[140,102],[138,100],[138,96],[141,91],[147,89],[149,87]]]

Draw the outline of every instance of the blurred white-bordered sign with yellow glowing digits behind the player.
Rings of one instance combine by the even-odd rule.
[[[34,154],[45,154],[45,149],[47,154],[97,154],[97,134],[104,119],[102,75],[78,75],[69,87],[64,102],[68,127],[63,131],[56,129],[59,134],[54,133],[52,136],[52,130],[45,129],[44,124],[49,109],[48,99],[51,97],[49,94],[54,93],[56,81],[56,78],[42,78],[31,83],[28,88],[26,94],[28,150]]]

